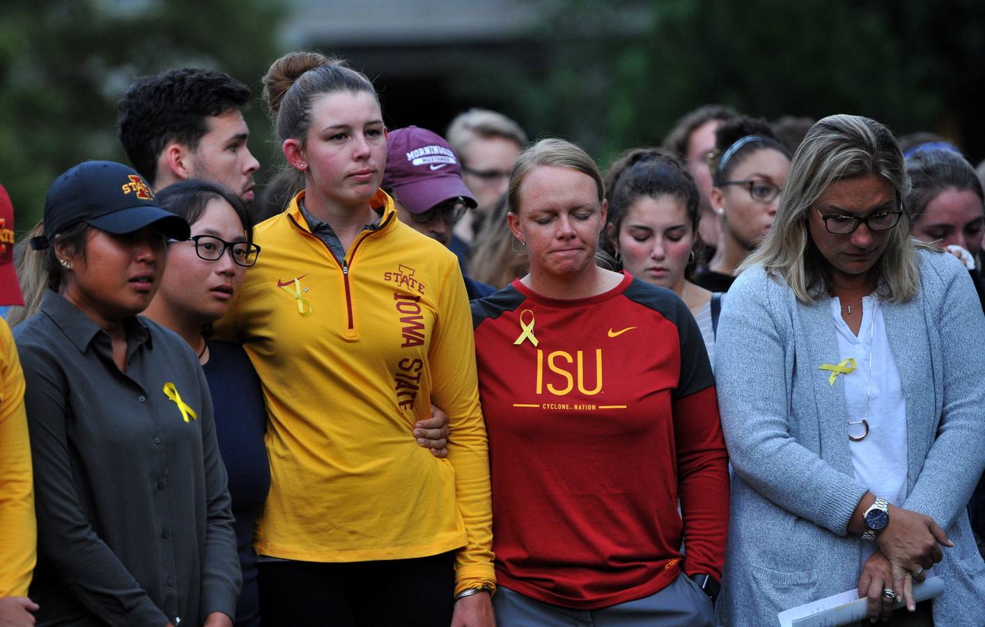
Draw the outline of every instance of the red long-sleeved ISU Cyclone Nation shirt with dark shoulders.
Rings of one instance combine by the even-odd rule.
[[[598,609],[682,568],[721,579],[727,454],[684,303],[626,274],[571,301],[514,281],[472,313],[498,583]]]

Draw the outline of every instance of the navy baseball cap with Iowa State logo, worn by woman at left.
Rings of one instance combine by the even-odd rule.
[[[35,250],[54,236],[85,222],[99,231],[123,235],[149,226],[174,240],[191,233],[184,218],[154,203],[154,191],[134,170],[111,161],[87,161],[55,178],[44,201],[44,234],[33,238]]]

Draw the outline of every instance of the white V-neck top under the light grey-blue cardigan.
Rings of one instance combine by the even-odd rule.
[[[861,421],[866,416],[867,396],[869,402],[869,435],[861,442],[848,443],[855,478],[877,497],[898,507],[906,500],[906,399],[896,360],[889,349],[880,305],[878,298],[862,299],[858,335],[841,317],[841,302],[837,298],[831,299],[831,315],[837,330],[838,355],[841,360],[855,359],[855,372],[841,376],[847,420]],[[865,427],[849,425],[848,433],[861,436]],[[875,549],[874,542],[862,541],[861,564],[865,564]]]

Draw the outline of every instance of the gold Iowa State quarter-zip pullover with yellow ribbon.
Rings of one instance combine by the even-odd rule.
[[[220,337],[243,344],[263,383],[271,489],[260,555],[358,562],[460,549],[456,592],[493,585],[486,428],[458,262],[397,220],[339,260],[310,232],[298,194],[259,225],[263,248]],[[430,402],[450,417],[448,458],[421,448]]]

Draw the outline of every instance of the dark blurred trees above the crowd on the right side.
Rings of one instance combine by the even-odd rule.
[[[985,154],[985,12],[974,0],[543,2],[528,57],[470,60],[457,92],[608,160],[699,104],[768,119],[851,112]]]

